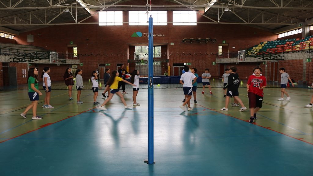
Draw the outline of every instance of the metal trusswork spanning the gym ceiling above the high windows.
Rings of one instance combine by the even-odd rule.
[[[304,5],[303,0],[295,1],[295,0],[280,0],[280,4],[276,3],[274,0],[269,0],[271,4],[270,7],[264,6],[246,6],[247,0],[219,0],[213,5],[210,5],[209,10],[202,14],[199,13],[199,9],[204,9],[208,7],[210,3],[199,4],[198,0],[195,0],[193,3],[189,5],[183,4],[184,1],[179,2],[178,0],[172,0],[172,2],[177,3],[176,5],[153,5],[153,4],[146,4],[146,5],[116,5],[117,3],[121,2],[122,0],[118,0],[116,2],[110,1],[110,5],[102,4],[99,0],[89,1],[85,0],[86,2],[95,2],[95,4],[88,4],[84,3],[86,7],[93,9],[96,13],[89,14],[82,5],[79,3],[73,3],[72,0],[61,0],[54,2],[53,0],[44,1],[45,3],[43,6],[39,7],[18,7],[23,0],[18,1],[17,3],[12,3],[8,1],[8,4],[5,4],[0,1],[0,11],[2,10],[12,10],[16,12],[16,10],[32,10],[26,13],[17,13],[14,15],[9,15],[7,17],[0,18],[0,26],[14,26],[14,25],[64,25],[64,24],[95,24],[95,23],[83,23],[86,19],[98,14],[100,11],[106,10],[108,8],[114,8],[116,10],[123,10],[123,9],[141,9],[144,10],[147,7],[151,7],[152,10],[160,10],[160,9],[190,9],[196,11],[198,14],[201,14],[203,17],[208,18],[209,22],[198,22],[198,23],[220,23],[220,24],[256,24],[256,25],[293,25],[303,19],[300,17],[293,18],[289,16],[280,15],[278,13],[271,13],[266,12],[266,10],[312,10],[307,14],[313,13],[313,1]],[[48,2],[48,3],[47,3]],[[207,2],[207,1],[201,1]],[[291,3],[295,4],[295,2],[299,3],[296,7],[295,5],[291,5]],[[250,1],[251,3],[251,1]],[[69,12],[64,12],[64,9],[68,8]],[[225,8],[231,8],[230,12],[225,12]],[[52,14],[49,14],[49,13]],[[69,15],[74,21],[71,23],[69,22]],[[222,18],[226,16],[228,18]],[[237,20],[229,19],[229,13],[233,14],[231,18],[236,17]],[[9,14],[9,13],[8,13]],[[39,16],[43,16],[44,19]],[[215,15],[214,15],[215,14]],[[58,20],[56,23],[53,23],[58,18],[62,18],[61,16],[67,15],[67,22],[63,23]],[[78,20],[79,15],[85,15],[83,20]],[[86,17],[87,15],[87,17]],[[217,16],[217,18],[209,17],[208,15]],[[302,15],[303,16],[303,15]],[[252,20],[250,20],[252,19]],[[232,22],[237,21],[237,22]],[[241,22],[240,22],[241,21]],[[172,22],[168,22],[172,23]]]

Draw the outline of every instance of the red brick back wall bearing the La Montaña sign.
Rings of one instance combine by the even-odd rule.
[[[167,12],[168,21],[172,21],[172,11]],[[128,20],[127,11],[124,11],[123,19],[124,21]],[[88,22],[97,22],[97,20],[98,16],[95,15],[88,19]],[[210,22],[207,18],[204,18],[199,14],[198,21]],[[138,31],[143,34],[142,37],[131,37],[133,33]],[[98,26],[97,24],[57,25],[22,33],[19,36],[16,36],[16,42],[18,44],[32,44],[48,50],[50,49],[52,51],[67,53],[67,45],[72,41],[77,45],[78,53],[80,54],[80,63],[83,63],[83,66],[78,66],[78,68],[82,69],[84,72],[83,79],[88,80],[91,72],[97,69],[99,64],[110,63],[111,66],[108,66],[107,68],[110,68],[111,70],[116,70],[116,64],[118,63],[127,64],[127,52],[128,48],[130,48],[129,46],[148,43],[147,37],[144,33],[148,33],[147,26],[129,26],[128,24],[123,24],[123,26]],[[215,61],[216,56],[214,54],[218,52],[218,45],[222,44],[223,40],[226,41],[226,44],[228,44],[228,51],[231,52],[249,48],[262,41],[277,39],[276,34],[272,34],[268,31],[235,24],[176,26],[172,25],[172,23],[168,23],[166,26],[154,26],[153,33],[156,35],[162,34],[162,36],[156,36],[153,38],[154,44],[165,46],[162,47],[162,53],[198,54],[198,56],[177,56],[177,60],[171,60],[170,56],[169,65],[171,67],[173,63],[191,62],[191,67],[197,67],[199,73],[205,68],[209,68],[212,76],[218,76],[218,65],[212,65],[212,63]],[[33,43],[27,43],[27,35],[29,34],[34,35]],[[182,42],[182,39],[184,38],[205,39],[208,37],[217,39],[217,42],[203,42],[201,44],[198,44],[197,41],[193,41],[193,43],[190,43],[189,41],[185,43]],[[174,45],[170,45],[171,42],[173,42]],[[104,55],[110,55],[110,53],[115,54],[115,56],[112,55],[109,57]],[[125,55],[116,56],[116,53]],[[132,53],[133,52],[130,49],[129,54]],[[200,53],[205,55],[202,56]],[[206,53],[213,54],[207,55]],[[196,60],[190,61],[189,59]],[[162,65],[166,65],[166,63],[162,63]],[[39,65],[39,70],[44,66],[45,65]],[[52,68],[51,73],[55,73],[54,69],[60,69],[63,74],[65,67],[67,66],[63,67],[61,65],[60,67],[62,69]],[[134,64],[130,64],[129,70],[133,70],[134,67]],[[165,72],[165,70],[166,67],[162,67],[162,73]],[[60,75],[54,76],[55,78],[52,78],[52,80],[61,79],[59,78]]]

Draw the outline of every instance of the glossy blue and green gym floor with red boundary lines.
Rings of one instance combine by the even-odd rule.
[[[59,100],[64,92],[55,95],[60,102],[54,109],[38,105],[43,120],[20,118],[23,107],[1,108],[0,118],[5,120],[0,127],[1,175],[313,175],[311,109],[292,111],[292,102],[284,105],[284,111],[282,105],[274,109],[280,102],[268,95],[268,105],[250,124],[249,111],[238,112],[237,107],[217,111],[224,102],[223,93],[215,92],[198,95],[194,109],[184,112],[179,108],[181,89],[155,90],[153,165],[143,162],[148,157],[147,90],[138,94],[141,106],[127,110],[115,96],[107,111],[99,111],[87,91],[82,105]],[[4,93],[9,91],[0,92],[0,97]],[[125,95],[127,103],[131,96]],[[242,100],[248,105],[248,99]],[[285,116],[289,111],[306,113],[303,121],[311,124],[293,127]]]

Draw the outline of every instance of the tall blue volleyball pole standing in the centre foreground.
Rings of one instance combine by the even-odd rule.
[[[153,161],[153,18],[149,17],[148,35],[148,164]]]

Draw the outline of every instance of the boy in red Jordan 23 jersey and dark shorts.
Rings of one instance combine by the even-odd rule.
[[[247,82],[250,109],[249,123],[253,123],[254,119],[257,119],[256,113],[262,108],[263,89],[266,86],[265,76],[260,75],[262,73],[261,67],[255,67],[253,71],[255,75],[249,76]]]

